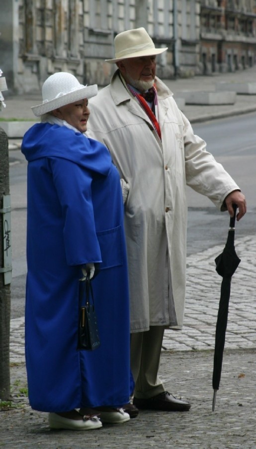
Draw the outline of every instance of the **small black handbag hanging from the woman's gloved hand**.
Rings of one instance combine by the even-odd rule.
[[[100,345],[91,281],[80,280],[77,350],[93,351]]]

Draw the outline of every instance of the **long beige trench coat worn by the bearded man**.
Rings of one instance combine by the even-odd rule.
[[[194,135],[168,87],[158,78],[156,87],[162,142],[118,70],[111,84],[89,100],[86,134],[108,147],[122,179],[131,332],[150,325],[182,327],[186,184],[220,210],[225,197],[239,189]]]

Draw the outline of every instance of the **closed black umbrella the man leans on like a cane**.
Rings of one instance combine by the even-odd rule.
[[[233,205],[233,209],[234,209],[234,216],[233,218],[230,218],[229,233],[225,248],[223,252],[220,255],[218,255],[218,257],[216,257],[215,259],[216,271],[220,276],[222,276],[222,283],[221,283],[220,304],[215,333],[215,349],[214,349],[214,362],[213,362],[213,375],[212,375],[212,388],[214,390],[212,401],[213,412],[215,408],[216,394],[217,390],[219,390],[221,378],[222,359],[223,359],[225,335],[229,313],[231,278],[235,273],[239,263],[241,262],[240,258],[237,256],[234,246],[237,206]]]

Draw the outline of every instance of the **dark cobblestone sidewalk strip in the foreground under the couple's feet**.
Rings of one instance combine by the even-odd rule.
[[[47,414],[31,411],[24,397],[0,412],[2,448],[254,448],[256,447],[255,351],[226,351],[215,412],[212,408],[210,351],[165,351],[161,375],[171,391],[192,403],[185,413],[142,411],[122,425],[80,433],[50,431]],[[12,381],[24,382],[24,365],[12,366]]]

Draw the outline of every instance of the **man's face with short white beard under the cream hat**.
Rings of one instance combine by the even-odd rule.
[[[125,81],[144,91],[153,86],[156,76],[156,56],[123,59],[117,66]]]

